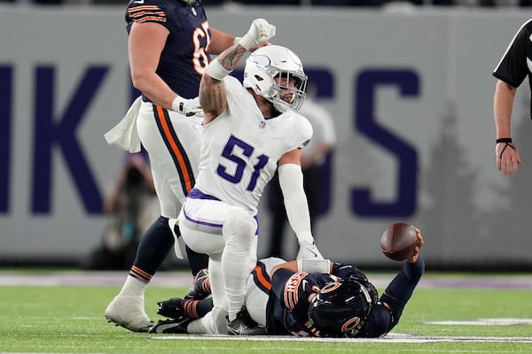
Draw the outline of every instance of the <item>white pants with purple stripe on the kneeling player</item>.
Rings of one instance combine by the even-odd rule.
[[[207,333],[227,335],[229,304],[245,304],[246,279],[257,261],[256,219],[243,208],[212,199],[186,198],[178,218],[184,242],[209,256],[214,309]]]

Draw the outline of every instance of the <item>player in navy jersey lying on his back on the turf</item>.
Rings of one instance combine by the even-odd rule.
[[[331,337],[383,337],[397,325],[404,306],[425,273],[419,247],[403,261],[402,270],[379,297],[377,290],[356,266],[327,259],[283,262],[259,261],[247,282],[245,335],[298,335]],[[171,298],[159,303],[159,314],[168,317],[151,333],[205,331],[212,301],[207,296],[207,276],[196,284],[196,300]],[[202,290],[203,289],[203,290]],[[204,317],[202,317],[204,316]],[[202,317],[202,318],[200,318]],[[200,319],[198,319],[200,318]],[[195,320],[192,320],[195,319]]]

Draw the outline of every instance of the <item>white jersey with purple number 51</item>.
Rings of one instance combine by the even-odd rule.
[[[201,128],[200,171],[194,189],[252,215],[286,152],[312,136],[309,120],[288,110],[264,119],[254,97],[227,76],[227,109]]]

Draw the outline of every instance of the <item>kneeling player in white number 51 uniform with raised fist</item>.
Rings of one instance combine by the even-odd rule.
[[[212,333],[241,335],[246,279],[257,253],[257,206],[278,170],[288,220],[300,244],[298,258],[321,258],[310,231],[303,190],[301,147],[312,136],[294,112],[305,97],[307,75],[292,50],[255,50],[246,60],[244,85],[228,76],[250,48],[275,27],[255,19],[239,42],[208,65],[200,81],[200,169],[179,215],[184,242],[209,255],[214,302]],[[226,319],[227,318],[227,319]]]

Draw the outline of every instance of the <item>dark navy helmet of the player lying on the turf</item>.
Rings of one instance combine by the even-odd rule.
[[[310,302],[309,319],[321,335],[356,335],[364,327],[377,296],[370,282],[355,278],[330,282]]]

